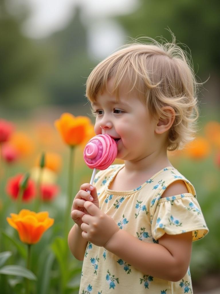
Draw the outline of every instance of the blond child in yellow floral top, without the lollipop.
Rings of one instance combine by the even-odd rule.
[[[90,74],[95,133],[116,141],[124,164],[99,171],[73,201],[68,243],[83,260],[80,294],[192,293],[192,241],[208,228],[193,185],[167,150],[193,139],[196,89],[174,42],[125,46]]]

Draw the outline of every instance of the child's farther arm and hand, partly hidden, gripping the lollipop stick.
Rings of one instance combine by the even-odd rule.
[[[82,216],[87,213],[84,208],[84,203],[86,200],[94,203],[95,206],[99,208],[99,200],[96,193],[96,187],[92,187],[90,184],[86,183],[80,187],[79,192],[76,194],[75,199],[72,204],[71,218],[74,220],[75,225],[71,228],[68,235],[68,245],[72,252],[78,260],[83,260],[86,246],[88,241],[82,238],[82,229],[80,225],[82,224]],[[91,195],[87,192],[91,190]],[[92,197],[92,198],[90,198]]]

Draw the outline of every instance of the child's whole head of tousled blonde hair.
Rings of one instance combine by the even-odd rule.
[[[190,56],[175,44],[146,38],[148,43],[133,43],[111,54],[91,72],[86,83],[86,96],[94,102],[98,93],[107,89],[107,82],[114,77],[112,93],[118,97],[119,86],[127,81],[138,90],[151,116],[169,115],[163,106],[175,110],[175,120],[169,129],[167,150],[182,149],[194,139],[197,132],[198,85]]]

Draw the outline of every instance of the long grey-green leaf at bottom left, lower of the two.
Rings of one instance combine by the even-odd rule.
[[[31,270],[23,268],[20,265],[6,265],[0,269],[0,274],[16,275],[19,277],[28,278],[29,280],[37,280],[37,277]]]

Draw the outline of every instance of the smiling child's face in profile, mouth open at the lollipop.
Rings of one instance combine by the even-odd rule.
[[[108,89],[111,90],[111,80]],[[96,113],[94,130],[97,135],[108,134],[115,139],[117,158],[137,161],[153,152],[157,122],[150,118],[147,107],[135,91],[127,91],[119,89],[118,101],[106,90],[97,95],[96,102],[92,103]]]

